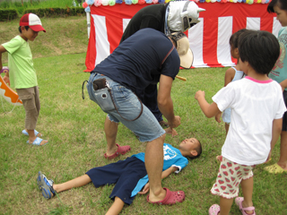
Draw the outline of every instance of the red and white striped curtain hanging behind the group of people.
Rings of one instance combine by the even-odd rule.
[[[109,56],[118,46],[127,23],[149,4],[91,6],[91,33],[86,56],[86,72]],[[206,11],[200,22],[186,31],[195,59],[193,67],[222,67],[236,63],[230,56],[229,39],[240,29],[267,30],[276,37],[281,28],[267,4],[198,3]]]

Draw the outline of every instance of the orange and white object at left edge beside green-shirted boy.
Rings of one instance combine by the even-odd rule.
[[[21,106],[22,100],[19,99],[17,92],[12,90],[3,80],[2,76],[0,75],[0,95],[8,101],[9,103],[15,106]]]

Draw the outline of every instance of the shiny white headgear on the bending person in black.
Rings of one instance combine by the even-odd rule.
[[[171,31],[184,32],[199,22],[199,13],[204,11],[191,1],[170,2],[168,26]]]

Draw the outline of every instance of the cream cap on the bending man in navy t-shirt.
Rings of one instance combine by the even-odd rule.
[[[187,35],[183,32],[175,32],[170,35],[170,38],[177,43],[178,56],[180,58],[180,66],[189,69],[194,62],[194,55],[189,47]]]

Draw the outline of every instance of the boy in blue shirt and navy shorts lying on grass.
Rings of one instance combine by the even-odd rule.
[[[188,160],[196,159],[202,152],[201,143],[196,138],[186,139],[179,144],[179,148],[174,148],[170,144],[163,144],[164,162],[163,172],[161,178],[169,176],[171,173],[178,173],[182,168],[187,166]],[[109,208],[106,214],[118,214],[122,211],[125,203],[131,204],[134,201],[137,193],[147,193],[149,191],[149,179],[144,166],[144,153],[138,153],[125,160],[118,160],[116,163],[109,165],[91,168],[85,175],[76,177],[63,184],[54,184],[53,180],[48,179],[44,174],[39,171],[37,177],[37,183],[39,190],[42,191],[43,196],[46,199],[50,199],[56,195],[56,193],[69,190],[74,187],[87,185],[92,182],[95,187],[101,185],[116,184],[109,198],[115,202]],[[143,191],[141,192],[141,190]],[[177,195],[173,195],[168,188],[164,188],[167,191],[165,199],[158,204],[172,204],[178,202],[178,195],[181,196],[181,202],[185,198],[185,193],[179,192]],[[149,195],[147,196],[149,202]]]

